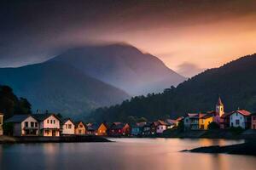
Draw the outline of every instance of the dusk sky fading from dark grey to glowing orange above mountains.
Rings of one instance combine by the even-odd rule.
[[[126,42],[192,77],[256,53],[254,0],[6,1],[0,67],[29,65],[67,48]]]

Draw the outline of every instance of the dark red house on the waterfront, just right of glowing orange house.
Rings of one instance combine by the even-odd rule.
[[[131,133],[131,127],[128,123],[113,122],[109,128],[110,136],[128,136]]]

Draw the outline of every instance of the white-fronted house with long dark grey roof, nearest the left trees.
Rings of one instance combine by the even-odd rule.
[[[5,121],[12,126],[13,136],[37,136],[39,123],[32,115],[15,115]]]

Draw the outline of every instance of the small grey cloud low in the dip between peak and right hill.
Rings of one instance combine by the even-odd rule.
[[[204,71],[205,69],[200,68],[199,66],[189,63],[189,62],[184,62],[181,65],[178,65],[178,70],[177,72],[184,77],[194,77],[201,71]]]

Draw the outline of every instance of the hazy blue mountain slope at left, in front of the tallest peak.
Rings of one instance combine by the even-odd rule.
[[[73,117],[129,98],[118,88],[88,77],[71,66],[55,62],[2,68],[0,84],[9,85],[15,94],[26,97],[34,110],[61,112]]]

